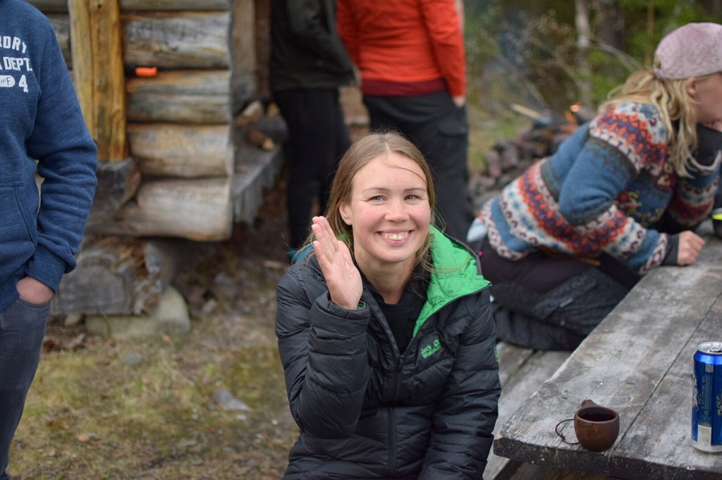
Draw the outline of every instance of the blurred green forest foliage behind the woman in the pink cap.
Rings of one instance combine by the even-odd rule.
[[[587,95],[593,108],[651,63],[664,34],[687,22],[722,20],[722,12],[702,0],[594,2],[606,4],[606,11],[586,3],[591,45],[582,53],[573,2],[466,0],[469,101],[492,113],[516,102],[560,114]]]

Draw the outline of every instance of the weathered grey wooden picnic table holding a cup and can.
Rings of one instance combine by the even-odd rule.
[[[499,429],[494,453],[619,479],[720,480],[722,453],[692,446],[692,356],[722,341],[722,240],[692,266],[653,269]],[[554,432],[586,398],[619,413],[612,448]],[[575,442],[574,422],[560,427]]]

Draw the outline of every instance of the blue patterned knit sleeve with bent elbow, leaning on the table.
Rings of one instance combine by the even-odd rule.
[[[639,273],[668,250],[666,235],[619,208],[620,193],[641,170],[666,160],[666,131],[647,119],[622,109],[596,118],[559,195],[560,212],[575,230]]]

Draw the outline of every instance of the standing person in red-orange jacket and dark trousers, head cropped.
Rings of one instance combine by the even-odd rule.
[[[466,52],[456,0],[338,0],[337,27],[361,71],[372,129],[393,128],[433,170],[440,226],[466,238],[469,123]]]

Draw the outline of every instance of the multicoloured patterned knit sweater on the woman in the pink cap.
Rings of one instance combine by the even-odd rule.
[[[709,214],[718,162],[680,178],[669,132],[652,105],[624,103],[578,128],[482,207],[490,244],[518,260],[538,248],[571,256],[606,252],[645,274],[677,241],[652,228],[667,212],[691,230]]]

